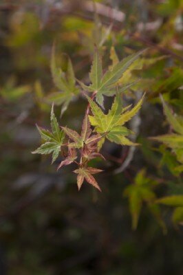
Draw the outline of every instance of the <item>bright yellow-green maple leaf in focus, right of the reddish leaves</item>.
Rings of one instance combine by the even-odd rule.
[[[131,131],[127,127],[123,126],[125,122],[131,120],[133,115],[139,111],[142,106],[144,96],[139,100],[138,104],[131,110],[129,107],[123,109],[122,101],[119,94],[114,98],[111,110],[107,113],[103,113],[102,109],[98,107],[96,102],[87,96],[93,115],[89,115],[89,121],[92,126],[95,127],[97,133],[105,133],[105,137],[111,142],[122,145],[136,145],[125,137],[131,134]],[[105,140],[103,137],[103,142]]]

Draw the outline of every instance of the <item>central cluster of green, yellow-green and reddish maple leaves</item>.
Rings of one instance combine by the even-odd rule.
[[[58,169],[69,164],[76,165],[77,168],[74,170],[74,173],[77,174],[79,190],[84,179],[89,184],[92,184],[95,188],[100,190],[93,175],[102,170],[89,166],[89,161],[96,157],[105,159],[103,155],[101,155],[100,149],[106,138],[110,142],[115,142],[120,145],[137,145],[127,138],[127,135],[130,135],[132,131],[127,129],[124,124],[131,120],[131,118],[133,118],[133,116],[140,110],[144,96],[142,96],[133,108],[131,108],[131,105],[124,108],[122,107],[121,92],[124,89],[128,89],[129,85],[123,87],[120,91],[116,91],[116,87],[122,74],[125,73],[129,66],[137,60],[142,52],[143,51],[140,51],[137,54],[127,56],[127,58],[119,61],[112,69],[109,69],[105,74],[103,74],[101,58],[98,50],[95,50],[94,61],[89,74],[91,85],[86,86],[85,84],[80,83],[83,89],[87,88],[87,91],[93,92],[92,97],[89,97],[89,95],[86,94],[89,105],[85,113],[80,134],[67,126],[60,127],[58,125],[58,121],[54,115],[53,105],[51,111],[52,132],[37,126],[43,144],[32,153],[52,153],[52,163],[56,160],[59,153],[63,153],[65,159],[63,159],[63,161],[58,165]],[[63,103],[63,113],[72,96],[79,92],[75,85],[76,80],[72,63],[67,58],[65,67],[63,66],[62,69],[58,69],[56,67],[53,48],[51,69],[54,83],[61,92],[54,95],[52,94],[50,100],[53,100],[56,104]],[[38,91],[41,91],[38,83],[36,84],[36,88]],[[115,95],[114,102],[107,114],[105,114],[102,109],[103,96],[105,95]],[[64,147],[67,147],[66,154]]]

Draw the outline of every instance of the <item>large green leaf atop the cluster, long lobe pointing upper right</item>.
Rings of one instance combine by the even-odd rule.
[[[91,85],[86,86],[79,82],[81,87],[87,91],[96,92],[96,101],[103,107],[103,96],[113,96],[116,94],[116,83],[118,83],[118,80],[121,78],[122,74],[129,69],[130,65],[139,58],[142,52],[144,52],[144,50],[137,52],[136,54],[131,54],[130,56],[122,59],[122,61],[116,62],[111,69],[103,74],[102,62],[98,54],[98,50],[96,49],[91,72],[89,74]],[[119,91],[125,91],[125,89],[128,89],[133,84],[133,82],[128,83]]]

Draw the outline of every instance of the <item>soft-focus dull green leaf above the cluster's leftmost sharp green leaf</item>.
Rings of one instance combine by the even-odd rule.
[[[46,98],[48,102],[54,102],[54,104],[61,105],[61,114],[67,109],[69,102],[79,94],[79,89],[76,87],[76,79],[74,76],[74,70],[72,62],[68,56],[63,54],[61,59],[64,61],[63,66],[56,66],[55,50],[54,46],[52,49],[52,59],[51,59],[51,72],[54,85],[59,90],[49,94]]]

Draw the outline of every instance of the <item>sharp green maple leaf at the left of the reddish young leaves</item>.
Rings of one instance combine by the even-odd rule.
[[[37,129],[41,135],[41,138],[45,142],[32,153],[33,154],[38,153],[41,155],[47,155],[52,153],[52,163],[53,163],[61,151],[61,145],[63,144],[63,139],[65,136],[64,132],[61,131],[61,129],[59,128],[58,122],[56,120],[56,116],[54,115],[54,105],[52,105],[50,120],[51,120],[52,132],[37,126]]]

